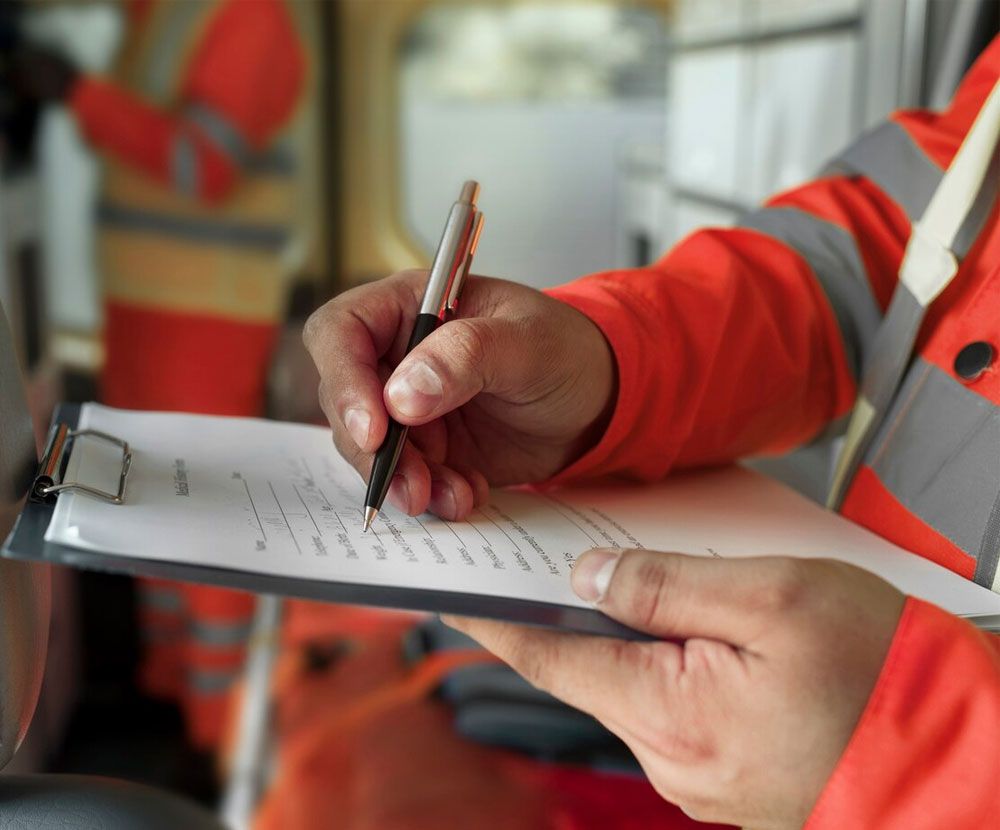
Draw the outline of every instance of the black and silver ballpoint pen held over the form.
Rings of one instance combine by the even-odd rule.
[[[406,347],[409,354],[427,335],[433,332],[441,323],[455,314],[462,286],[469,274],[472,256],[479,244],[479,235],[483,230],[483,214],[476,209],[479,198],[479,184],[467,181],[462,185],[458,201],[451,206],[448,221],[441,234],[434,263],[427,275],[427,286],[420,303],[420,311],[413,322],[413,333]],[[368,491],[365,493],[365,531],[382,509],[385,494],[396,472],[399,454],[406,442],[407,428],[389,419],[389,429],[386,432],[382,446],[375,453],[372,472],[368,478]]]

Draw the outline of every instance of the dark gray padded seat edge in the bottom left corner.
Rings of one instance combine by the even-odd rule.
[[[0,830],[223,830],[160,790],[85,775],[0,776]]]

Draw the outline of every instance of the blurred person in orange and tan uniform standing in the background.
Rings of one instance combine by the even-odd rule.
[[[20,85],[63,102],[104,161],[102,400],[260,415],[301,215],[310,59],[282,0],[132,0],[107,77],[28,46]],[[142,685],[216,740],[252,597],[143,581]]]

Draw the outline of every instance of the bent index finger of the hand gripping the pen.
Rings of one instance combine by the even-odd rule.
[[[421,272],[402,272],[347,291],[306,321],[302,339],[320,374],[320,405],[335,433],[346,430],[366,453],[388,426],[379,360],[408,336]]]

